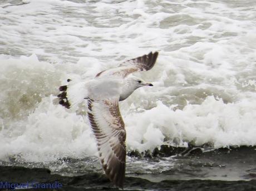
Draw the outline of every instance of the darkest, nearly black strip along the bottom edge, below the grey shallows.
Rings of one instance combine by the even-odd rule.
[[[58,190],[119,190],[112,187],[109,180],[102,174],[90,173],[76,177],[65,177],[51,174],[43,168],[28,169],[24,167],[1,167],[2,181],[10,182],[58,182],[62,188]],[[127,177],[124,190],[255,190],[256,180],[221,181],[221,180],[164,180],[153,183],[149,180]],[[17,189],[18,190],[18,189]],[[20,189],[47,190],[47,189]],[[50,189],[48,189],[50,190]]]

